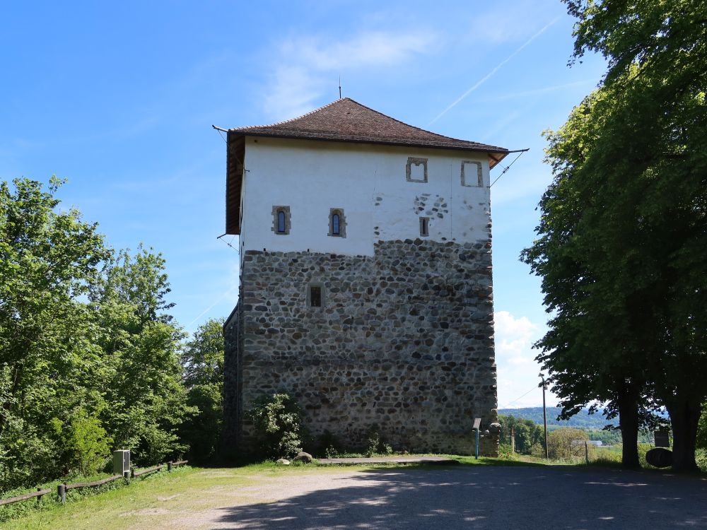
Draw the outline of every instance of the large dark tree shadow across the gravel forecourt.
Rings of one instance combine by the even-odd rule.
[[[640,471],[456,466],[303,476],[225,507],[220,529],[707,528],[707,481]]]

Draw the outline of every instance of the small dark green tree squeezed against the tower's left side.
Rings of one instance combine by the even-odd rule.
[[[187,404],[197,413],[185,421],[180,436],[189,445],[189,459],[209,461],[218,454],[223,423],[223,319],[199,326],[180,355]]]

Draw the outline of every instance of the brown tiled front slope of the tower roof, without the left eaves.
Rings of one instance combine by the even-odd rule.
[[[394,146],[460,149],[506,155],[508,149],[485,143],[458,140],[381,114],[350,98],[336,100],[298,118],[272,125],[229,129],[243,136],[274,136],[308,140],[384,143]],[[491,167],[503,156],[491,158]]]

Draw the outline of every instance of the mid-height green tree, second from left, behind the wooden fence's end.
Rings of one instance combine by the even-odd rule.
[[[138,464],[178,457],[187,449],[178,428],[194,413],[181,382],[184,334],[165,313],[172,304],[165,260],[139,247],[105,266],[91,293],[100,319],[100,346],[110,374],[101,418],[116,447],[132,449]]]

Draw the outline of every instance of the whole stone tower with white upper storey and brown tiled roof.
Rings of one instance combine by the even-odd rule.
[[[315,436],[474,452],[474,418],[497,421],[489,169],[508,150],[349,98],[229,129],[227,149],[228,449],[252,449],[244,411],[286,390]],[[497,449],[491,428],[481,452]]]

